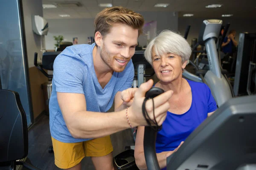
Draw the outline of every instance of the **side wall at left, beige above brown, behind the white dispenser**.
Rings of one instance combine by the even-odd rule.
[[[32,31],[32,15],[43,17],[42,0],[23,0],[23,17],[26,37],[27,59],[29,63],[29,80],[32,98],[34,119],[44,111],[44,97],[41,84],[47,81],[47,78],[34,66],[34,53],[41,53],[41,36]]]

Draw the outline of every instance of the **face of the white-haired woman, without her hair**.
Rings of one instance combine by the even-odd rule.
[[[175,79],[182,77],[182,68],[186,67],[186,62],[182,64],[181,57],[166,53],[162,56],[157,56],[152,50],[152,67],[154,68],[157,78],[162,82],[172,82]]]

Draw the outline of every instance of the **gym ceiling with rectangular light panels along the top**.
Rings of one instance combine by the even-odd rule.
[[[233,14],[233,17],[256,18],[256,0],[43,0],[43,4],[56,5],[58,2],[79,2],[81,7],[44,8],[46,19],[94,18],[103,8],[99,3],[112,3],[113,6],[125,6],[134,11],[177,11],[179,17],[191,13],[194,17],[221,17],[221,14]],[[154,8],[156,3],[169,3],[167,8]],[[221,8],[205,8],[210,4],[222,4]],[[69,14],[70,17],[60,17]],[[252,20],[256,22],[256,20]]]

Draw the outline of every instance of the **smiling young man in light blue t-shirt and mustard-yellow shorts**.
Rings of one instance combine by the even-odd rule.
[[[143,24],[143,16],[127,8],[105,8],[95,19],[96,43],[67,47],[55,59],[49,124],[57,167],[80,170],[80,161],[90,156],[96,170],[113,170],[109,135],[147,125],[142,104],[153,81],[131,88],[131,57]],[[167,91],[154,99],[159,125],[171,96]],[[113,100],[115,112],[105,113]],[[146,110],[154,119],[151,101]]]

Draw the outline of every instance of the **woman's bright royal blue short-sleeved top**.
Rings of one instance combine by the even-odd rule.
[[[206,84],[187,81],[192,91],[191,107],[181,115],[167,112],[162,129],[157,133],[157,153],[175,150],[180,142],[185,141],[190,133],[207,118],[207,113],[217,110],[215,99]]]

